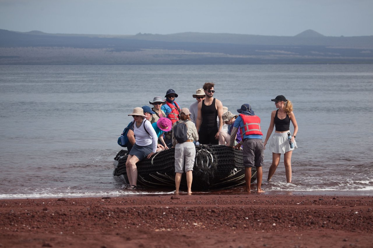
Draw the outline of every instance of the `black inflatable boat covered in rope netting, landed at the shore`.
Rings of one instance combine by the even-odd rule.
[[[198,145],[193,168],[193,188],[209,189],[229,188],[242,185],[244,182],[244,165],[242,151],[225,145]],[[126,175],[126,160],[128,152],[121,150],[115,160],[118,161],[114,175]],[[139,181],[146,184],[174,185],[175,149],[157,152],[150,159],[143,159],[137,164]],[[254,169],[255,171],[255,169]],[[254,172],[253,171],[253,172]],[[255,173],[253,173],[253,176]],[[256,178],[256,175],[253,179]]]

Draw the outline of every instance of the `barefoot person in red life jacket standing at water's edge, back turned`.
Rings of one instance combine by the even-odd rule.
[[[246,192],[250,193],[251,168],[255,166],[257,169],[257,192],[263,193],[261,179],[263,177],[264,144],[263,133],[260,128],[260,118],[255,115],[250,104],[243,104],[240,109],[237,109],[237,112],[240,115],[233,125],[230,146],[233,147],[238,128],[241,128],[242,140],[234,148],[240,149],[240,146],[243,144],[242,155],[245,166]]]

